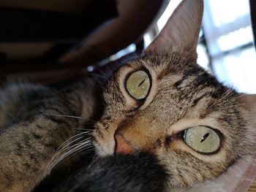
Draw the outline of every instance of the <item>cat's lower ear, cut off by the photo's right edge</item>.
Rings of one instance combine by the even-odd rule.
[[[246,133],[244,155],[254,155],[256,157],[256,94],[241,94],[236,99],[236,104],[241,110],[241,115],[246,120]]]

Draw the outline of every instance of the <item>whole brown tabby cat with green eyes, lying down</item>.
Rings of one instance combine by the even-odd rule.
[[[170,190],[254,155],[256,96],[196,64],[202,15],[203,0],[182,1],[145,54],[103,87],[86,79],[66,88],[2,88],[0,191],[33,191],[53,169],[68,172],[72,166],[56,164],[70,154],[69,164],[82,167],[53,191]],[[81,150],[88,153],[72,155]]]

